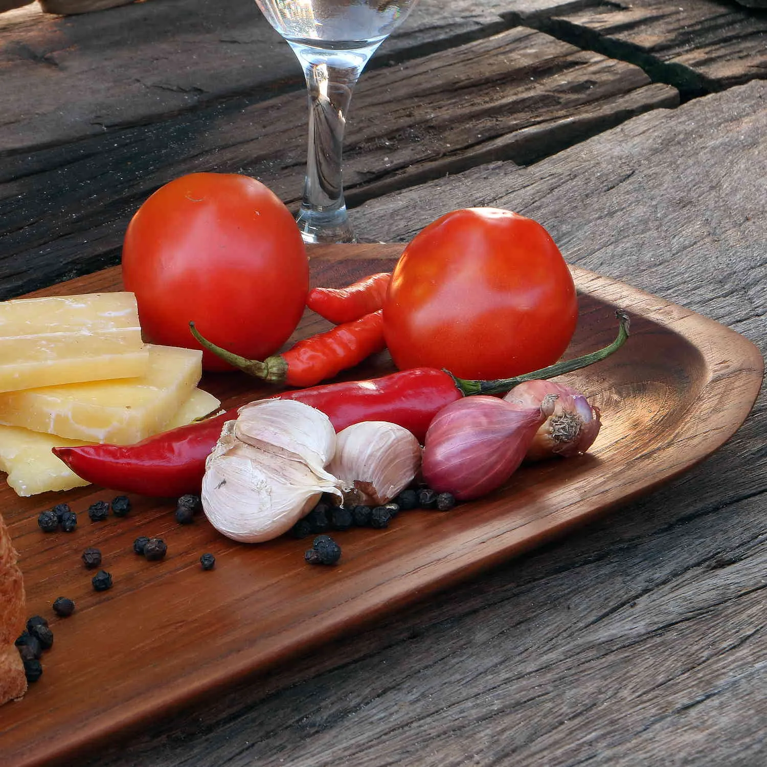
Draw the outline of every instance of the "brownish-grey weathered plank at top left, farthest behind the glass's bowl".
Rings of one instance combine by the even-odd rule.
[[[369,68],[500,31],[506,2],[421,0]],[[0,153],[303,87],[254,0],[148,0],[67,18],[35,4],[0,16],[0,40]]]

